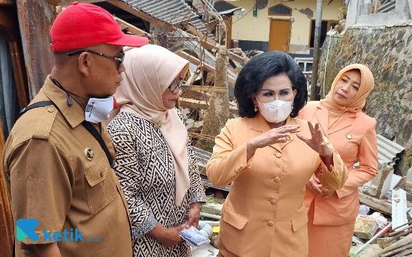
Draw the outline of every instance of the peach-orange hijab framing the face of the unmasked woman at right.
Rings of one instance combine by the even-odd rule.
[[[359,87],[358,93],[352,103],[349,106],[341,106],[336,103],[333,99],[334,88],[336,83],[339,82],[343,73],[353,69],[358,69],[361,71],[361,86]],[[338,75],[336,75],[332,87],[325,99],[321,100],[326,107],[333,110],[349,111],[349,112],[360,112],[366,104],[366,98],[371,93],[371,90],[374,88],[375,80],[374,75],[371,73],[369,68],[363,64],[350,64],[343,68]]]

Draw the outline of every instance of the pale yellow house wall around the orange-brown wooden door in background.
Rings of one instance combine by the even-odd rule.
[[[231,4],[244,8],[246,10],[244,14],[246,15],[233,16],[232,39],[240,40],[240,45],[247,45],[248,48],[267,51],[271,19],[292,19],[289,52],[308,54],[310,21],[316,19],[316,2],[316,0],[269,1],[263,9],[258,10],[258,16],[253,17],[253,12],[248,13],[248,11],[253,8],[255,0],[233,1]],[[330,0],[324,0],[323,2],[322,19],[325,21],[337,20],[341,1],[334,0],[328,5],[329,2]],[[292,16],[268,15],[268,8],[279,3],[292,8]]]

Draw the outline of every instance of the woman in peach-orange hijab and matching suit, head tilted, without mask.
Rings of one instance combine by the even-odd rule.
[[[321,125],[349,171],[343,188],[330,191],[315,176],[307,184],[310,257],[347,257],[359,212],[358,186],[378,173],[376,121],[362,112],[374,88],[367,66],[352,64],[339,72],[326,99],[310,101],[300,119]],[[353,169],[359,161],[359,169]],[[334,236],[332,236],[334,235]]]

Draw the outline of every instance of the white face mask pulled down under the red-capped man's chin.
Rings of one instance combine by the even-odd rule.
[[[90,98],[84,111],[84,119],[91,123],[100,123],[108,119],[108,113],[117,108],[115,97]]]

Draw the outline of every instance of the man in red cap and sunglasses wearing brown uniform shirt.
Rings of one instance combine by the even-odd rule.
[[[3,153],[16,256],[132,257],[128,204],[102,121],[116,106],[122,47],[148,39],[123,34],[111,14],[87,3],[63,10],[51,38],[52,74]]]

